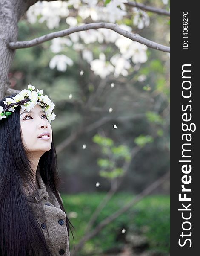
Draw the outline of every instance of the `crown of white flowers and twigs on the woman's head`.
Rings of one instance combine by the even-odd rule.
[[[3,101],[3,103],[5,104],[4,108],[0,106],[0,120],[8,118],[17,106],[21,106],[23,111],[29,112],[36,104],[43,108],[49,123],[53,121],[56,116],[52,113],[55,104],[51,102],[47,95],[43,95],[43,90],[37,89],[37,91],[35,91],[35,87],[31,84],[28,85],[28,90],[22,90],[19,94],[14,96],[13,99],[6,98],[6,101]]]

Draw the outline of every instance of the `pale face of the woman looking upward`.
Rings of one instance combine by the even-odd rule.
[[[35,105],[30,112],[20,110],[22,142],[25,148],[41,156],[51,149],[52,129],[46,114],[40,105]],[[38,138],[43,132],[49,132],[50,138]]]

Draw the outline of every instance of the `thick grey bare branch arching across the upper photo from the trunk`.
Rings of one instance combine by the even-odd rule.
[[[35,38],[35,39],[29,40],[29,41],[9,42],[9,43],[7,43],[7,46],[11,49],[27,48],[27,47],[32,47],[32,46],[41,44],[43,42],[49,41],[53,38],[63,37],[63,36],[70,35],[72,33],[83,31],[83,30],[100,29],[100,28],[111,29],[111,30],[117,32],[118,34],[131,39],[132,41],[136,41],[141,44],[145,44],[147,47],[150,47],[152,49],[160,50],[163,52],[170,52],[170,47],[168,47],[168,46],[165,46],[162,44],[157,44],[154,41],[143,38],[138,34],[130,33],[127,30],[121,29],[115,23],[108,23],[108,22],[97,22],[97,23],[89,23],[89,24],[84,24],[84,25],[80,25],[80,26],[75,26],[73,28],[64,29],[64,30],[60,30],[57,32],[52,32],[47,35],[43,35],[43,36],[40,36],[39,38]]]

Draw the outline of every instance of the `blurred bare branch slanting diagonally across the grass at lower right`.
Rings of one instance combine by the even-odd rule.
[[[84,235],[84,237],[80,240],[80,242],[75,247],[76,252],[80,250],[83,245],[97,235],[104,227],[106,227],[111,221],[114,221],[117,217],[119,217],[121,214],[129,210],[134,204],[142,200],[146,195],[149,195],[151,192],[153,192],[155,189],[157,189],[159,186],[161,186],[168,178],[170,177],[170,172],[165,173],[162,177],[154,181],[150,186],[148,186],[146,189],[144,189],[140,194],[138,194],[136,197],[134,197],[128,204],[126,204],[124,207],[119,209],[118,211],[114,212],[112,215],[105,218],[103,221],[101,221],[97,227],[94,228],[90,233],[87,235]],[[71,256],[74,256],[74,251],[71,251]]]

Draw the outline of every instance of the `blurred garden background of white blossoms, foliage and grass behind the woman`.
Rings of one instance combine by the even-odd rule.
[[[20,20],[18,41],[106,21],[170,46],[169,16],[124,2],[37,2]],[[165,10],[170,6],[164,0],[137,3]],[[76,229],[74,255],[169,255],[169,178],[80,244],[169,172],[169,53],[109,29],[91,29],[18,49],[9,79],[17,90],[32,84],[55,104],[51,127],[60,194]],[[70,233],[71,255],[73,247]]]

